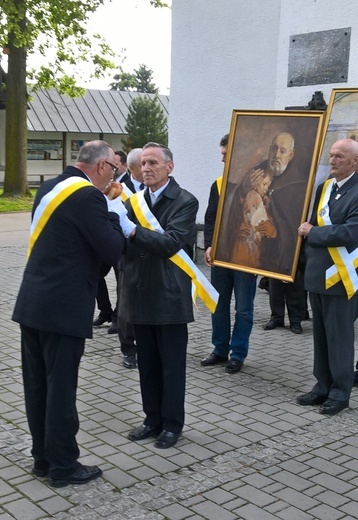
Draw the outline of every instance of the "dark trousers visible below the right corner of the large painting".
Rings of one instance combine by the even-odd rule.
[[[294,283],[284,283],[270,278],[269,282],[271,318],[284,321],[285,304],[290,324],[301,323],[307,313],[307,293],[303,276],[299,275]]]

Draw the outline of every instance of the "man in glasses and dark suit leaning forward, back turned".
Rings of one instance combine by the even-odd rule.
[[[54,487],[102,474],[77,460],[76,391],[85,338],[92,337],[100,261],[115,265],[125,247],[118,215],[108,212],[102,193],[116,173],[114,163],[108,144],[91,141],[75,166],[41,185],[13,313],[21,327],[32,472],[48,475]]]

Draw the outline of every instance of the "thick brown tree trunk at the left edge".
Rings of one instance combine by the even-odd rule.
[[[22,26],[25,21],[21,23]],[[16,48],[9,37],[6,78],[4,195],[29,195],[27,184],[26,47]]]

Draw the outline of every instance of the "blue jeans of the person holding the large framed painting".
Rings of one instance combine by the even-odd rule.
[[[256,275],[226,267],[211,268],[211,283],[220,297],[212,315],[214,352],[222,357],[244,361],[249,350],[249,337],[254,321]],[[231,334],[230,304],[235,296],[235,323]],[[230,339],[231,338],[231,339]]]

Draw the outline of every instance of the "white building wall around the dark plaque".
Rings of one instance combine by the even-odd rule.
[[[222,173],[233,109],[306,106],[321,90],[358,87],[358,2],[173,0],[169,146],[174,175],[200,203]],[[351,27],[347,83],[287,87],[290,36]]]

